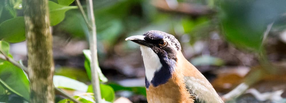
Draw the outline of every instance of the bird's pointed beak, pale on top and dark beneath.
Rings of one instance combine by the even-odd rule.
[[[127,37],[125,40],[131,40],[135,43],[138,43],[139,45],[144,45],[147,47],[150,47],[150,44],[144,39],[145,36],[143,35],[135,35],[135,36],[131,36],[131,37]]]

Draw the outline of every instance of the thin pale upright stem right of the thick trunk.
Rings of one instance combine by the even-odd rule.
[[[97,46],[96,46],[96,25],[94,19],[93,12],[93,3],[92,0],[86,0],[87,5],[87,13],[88,13],[88,21],[91,23],[92,28],[89,29],[89,42],[90,42],[90,51],[91,51],[91,77],[92,77],[92,88],[94,93],[94,98],[97,103],[102,103],[101,94],[100,94],[100,86],[99,86],[99,78],[98,78],[98,58],[97,58]]]

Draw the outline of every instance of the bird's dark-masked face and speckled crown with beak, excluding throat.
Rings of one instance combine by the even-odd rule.
[[[147,31],[143,35],[131,36],[125,40],[131,40],[138,43],[141,48],[150,48],[157,55],[175,61],[177,51],[181,50],[179,41],[173,35],[157,30]]]

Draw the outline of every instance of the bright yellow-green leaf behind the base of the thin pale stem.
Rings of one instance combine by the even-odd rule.
[[[87,92],[93,92],[92,85],[88,86]],[[100,92],[102,99],[113,102],[115,99],[115,93],[111,86],[108,86],[106,84],[100,84]]]

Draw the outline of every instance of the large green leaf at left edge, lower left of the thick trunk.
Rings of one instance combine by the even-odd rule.
[[[0,84],[26,100],[29,100],[29,80],[23,70],[10,62],[0,63]]]

